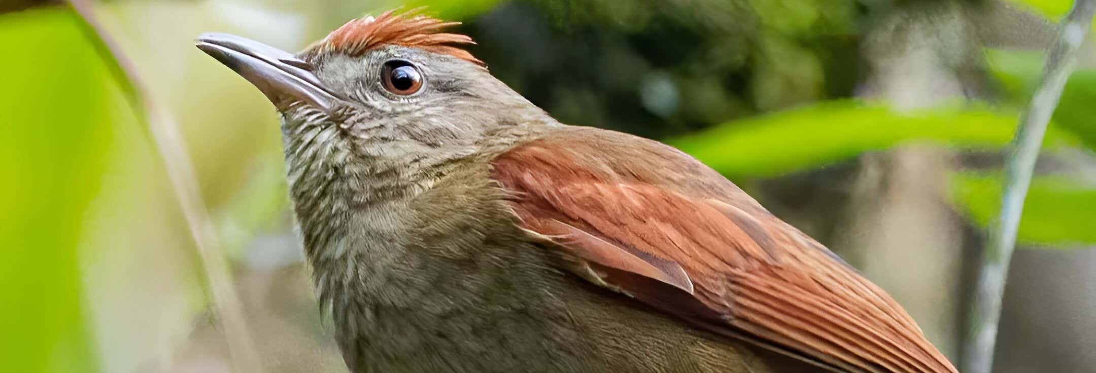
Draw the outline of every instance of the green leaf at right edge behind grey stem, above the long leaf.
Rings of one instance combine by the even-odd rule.
[[[1042,53],[986,50],[991,73],[1001,83],[1005,100],[1025,107],[1042,74]],[[1096,149],[1096,70],[1081,69],[1070,75],[1054,109],[1054,125],[1076,133],[1089,149]]]

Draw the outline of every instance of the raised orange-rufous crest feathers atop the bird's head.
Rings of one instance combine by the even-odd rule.
[[[453,46],[454,44],[476,44],[471,37],[441,32],[445,27],[459,24],[460,22],[445,22],[418,14],[418,10],[399,14],[396,13],[396,10],[390,10],[376,18],[370,15],[346,22],[322,40],[309,47],[306,53],[341,53],[358,56],[380,46],[399,45],[421,48],[439,55],[449,55],[483,66],[483,61],[473,57],[472,54]]]

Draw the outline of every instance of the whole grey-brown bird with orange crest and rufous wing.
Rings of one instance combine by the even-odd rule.
[[[552,119],[456,24],[388,11],[297,55],[196,40],[282,114],[352,372],[956,372],[891,296],[730,180]]]

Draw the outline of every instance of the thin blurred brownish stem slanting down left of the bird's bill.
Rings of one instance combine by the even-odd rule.
[[[209,213],[198,191],[194,166],[186,153],[182,135],[174,117],[153,100],[151,92],[137,73],[137,68],[107,35],[95,18],[94,7],[88,0],[68,0],[68,4],[84,22],[89,40],[115,74],[137,120],[151,131],[171,186],[194,238],[198,257],[205,269],[213,302],[224,329],[235,372],[259,372],[261,369],[254,342],[248,333],[240,299],[232,284],[228,264],[214,233]]]

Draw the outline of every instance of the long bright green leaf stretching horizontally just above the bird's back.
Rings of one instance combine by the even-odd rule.
[[[984,108],[899,113],[881,104],[835,101],[735,120],[670,143],[728,176],[776,176],[845,161],[909,141],[997,149],[1016,117]],[[1044,143],[1075,143],[1050,130]]]

